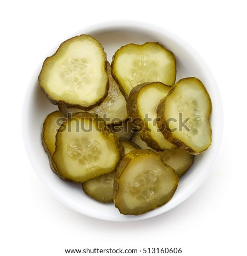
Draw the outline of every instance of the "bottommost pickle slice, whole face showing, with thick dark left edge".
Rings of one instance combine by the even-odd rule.
[[[122,214],[139,215],[164,205],[178,186],[178,176],[149,150],[126,154],[116,170],[115,207]]]

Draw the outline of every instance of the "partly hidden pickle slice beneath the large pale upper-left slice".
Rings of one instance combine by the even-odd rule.
[[[127,118],[126,111],[126,99],[119,90],[119,86],[111,76],[111,66],[107,63],[107,74],[109,77],[109,90],[108,95],[102,103],[96,107],[88,110],[89,113],[98,114],[104,119],[106,124],[114,124],[115,121],[123,121]],[[71,115],[81,110],[78,108],[67,108],[65,106],[59,106],[59,110],[66,116]]]

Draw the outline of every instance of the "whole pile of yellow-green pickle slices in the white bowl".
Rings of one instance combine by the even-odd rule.
[[[61,43],[38,77],[60,110],[43,123],[50,168],[124,215],[169,202],[212,133],[205,86],[176,82],[176,73],[175,55],[158,42],[126,44],[111,64],[90,35]]]

